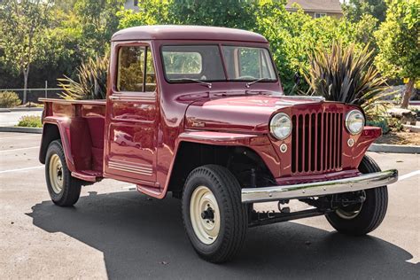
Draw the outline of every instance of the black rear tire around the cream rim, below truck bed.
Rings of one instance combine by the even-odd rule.
[[[61,161],[61,176],[63,186],[61,191],[54,191],[54,188],[51,184],[50,177],[50,165],[51,157],[58,155],[58,158]],[[58,206],[74,206],[77,200],[80,197],[82,189],[82,181],[74,178],[71,175],[71,172],[68,170],[66,164],[66,156],[64,154],[63,146],[60,140],[52,141],[48,146],[47,154],[45,156],[45,179],[47,182],[47,188],[50,192],[50,197],[52,202]]]

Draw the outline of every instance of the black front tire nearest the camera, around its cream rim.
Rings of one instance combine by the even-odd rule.
[[[200,241],[191,222],[191,196],[199,186],[206,186],[213,192],[220,210],[219,234],[210,245]],[[183,224],[198,255],[214,263],[230,261],[244,244],[248,227],[246,205],[241,202],[241,186],[237,178],[225,167],[198,167],[191,171],[185,182],[182,204]]]

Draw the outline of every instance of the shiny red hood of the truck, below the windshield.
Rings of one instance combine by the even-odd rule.
[[[288,109],[295,105],[321,103],[321,97],[243,95],[207,98],[189,105],[185,127],[263,134],[269,131],[268,122],[273,113],[290,111]]]

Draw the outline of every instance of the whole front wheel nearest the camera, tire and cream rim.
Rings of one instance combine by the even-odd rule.
[[[244,243],[247,222],[241,187],[227,168],[191,171],[183,189],[183,224],[199,256],[216,263],[231,260]]]

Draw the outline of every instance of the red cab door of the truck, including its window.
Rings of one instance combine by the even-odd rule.
[[[131,183],[154,183],[159,118],[152,51],[144,43],[115,44],[113,50],[105,173]]]

